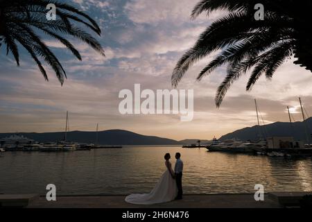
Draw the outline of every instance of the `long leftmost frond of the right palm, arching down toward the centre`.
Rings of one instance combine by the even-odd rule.
[[[200,35],[196,44],[177,62],[171,76],[172,85],[176,87],[189,67],[201,58],[218,49],[261,35],[259,33],[268,31],[268,26],[274,19],[277,18],[271,16],[266,21],[254,22],[253,17],[245,12],[232,12],[218,19]],[[289,26],[289,22],[284,21],[283,25]]]

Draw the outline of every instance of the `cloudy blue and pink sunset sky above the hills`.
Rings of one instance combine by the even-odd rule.
[[[302,121],[298,96],[312,113],[312,75],[293,65],[293,58],[277,69],[272,80],[262,76],[251,92],[245,91],[248,74],[236,81],[220,108],[214,96],[225,77],[220,67],[200,82],[196,76],[214,58],[208,56],[191,67],[177,89],[194,90],[194,116],[180,121],[179,114],[120,114],[119,92],[134,89],[173,89],[171,74],[177,60],[198,35],[226,12],[190,19],[197,1],[191,0],[68,0],[91,15],[101,27],[97,39],[106,57],[73,40],[83,61],[76,60],[62,44],[44,37],[67,71],[61,86],[49,67],[45,81],[30,56],[21,48],[21,65],[0,49],[0,132],[55,132],[69,130],[123,129],[171,139],[212,139],[257,124],[254,99],[261,123],[288,121],[286,106]],[[262,121],[263,119],[263,121]]]

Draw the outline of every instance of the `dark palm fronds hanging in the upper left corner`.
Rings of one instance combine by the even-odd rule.
[[[56,6],[56,19],[51,21],[46,19],[46,14],[49,12],[46,6],[49,3]],[[64,44],[78,60],[82,60],[78,50],[60,34],[75,37],[105,56],[101,44],[83,28],[78,27],[78,24],[83,24],[101,35],[101,29],[94,19],[67,3],[51,0],[0,0],[0,46],[6,45],[7,55],[9,52],[12,53],[17,66],[19,66],[18,44],[23,46],[37,63],[46,80],[49,79],[40,58],[55,71],[61,84],[64,83],[66,72],[36,31]]]

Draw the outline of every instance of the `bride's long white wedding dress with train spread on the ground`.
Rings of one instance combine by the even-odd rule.
[[[171,173],[173,173],[171,162],[166,161],[165,165],[167,170],[162,174],[157,185],[149,194],[130,194],[125,197],[125,202],[149,205],[154,203],[165,203],[173,200],[177,196],[177,184],[175,179],[171,176]]]

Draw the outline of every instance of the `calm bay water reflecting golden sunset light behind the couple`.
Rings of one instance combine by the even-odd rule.
[[[182,154],[188,194],[312,191],[312,161],[209,153],[205,148],[124,147],[69,153],[6,152],[0,156],[0,193],[130,194],[148,192],[166,170],[164,154]]]

